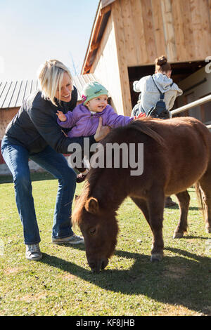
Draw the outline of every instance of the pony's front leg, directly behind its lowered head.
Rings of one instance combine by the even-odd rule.
[[[164,192],[161,189],[153,189],[148,196],[149,221],[153,232],[151,261],[160,261],[163,256],[164,242],[162,238],[162,221],[164,204]]]

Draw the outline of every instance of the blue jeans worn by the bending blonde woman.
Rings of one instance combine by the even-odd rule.
[[[58,154],[50,146],[41,152],[30,153],[21,145],[13,145],[6,137],[4,137],[1,143],[1,153],[13,175],[15,200],[20,220],[23,224],[25,244],[37,244],[40,242],[34,199],[32,197],[32,182],[28,165],[29,158],[58,179],[58,193],[53,216],[53,238],[73,235],[70,216],[72,199],[75,194],[76,174],[68,166],[68,161],[65,157],[62,154]],[[51,194],[50,191],[49,194]]]

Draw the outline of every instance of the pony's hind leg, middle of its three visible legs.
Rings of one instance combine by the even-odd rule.
[[[179,209],[180,209],[180,218],[179,223],[174,230],[173,238],[181,238],[184,235],[184,232],[187,231],[188,227],[188,209],[190,204],[190,195],[188,194],[188,191],[185,190],[184,192],[179,192],[179,194],[176,194],[178,200],[179,200]]]

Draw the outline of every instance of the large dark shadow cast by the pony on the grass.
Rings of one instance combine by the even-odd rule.
[[[98,275],[56,256],[45,254],[41,262],[108,291],[143,295],[160,303],[183,305],[207,315],[211,306],[210,258],[170,247],[165,250],[176,256],[165,256],[160,263],[151,263],[150,256],[144,254],[116,251],[115,256],[134,260],[132,268],[107,268]]]

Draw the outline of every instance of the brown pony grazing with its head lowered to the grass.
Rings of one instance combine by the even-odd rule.
[[[174,238],[187,230],[189,194],[198,182],[205,204],[205,228],[211,232],[211,134],[200,121],[190,117],[139,119],[115,128],[103,140],[108,143],[143,143],[143,173],[131,175],[131,168],[91,169],[72,214],[79,225],[92,271],[106,268],[117,243],[116,211],[129,196],[143,212],[153,232],[151,260],[161,260],[164,243],[162,220],[165,196],[176,194],[180,219]],[[137,155],[136,155],[137,156]],[[136,157],[137,159],[137,157]]]

